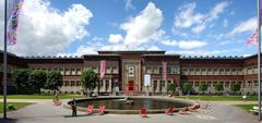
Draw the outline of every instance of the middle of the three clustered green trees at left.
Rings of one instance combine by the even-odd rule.
[[[47,73],[45,71],[36,70],[29,73],[29,83],[35,86],[36,93],[40,93],[47,81]]]

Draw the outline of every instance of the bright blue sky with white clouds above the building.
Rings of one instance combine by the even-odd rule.
[[[20,56],[81,56],[97,50],[248,56],[257,51],[254,45],[246,46],[257,26],[257,0],[25,0],[23,9],[19,44],[10,47]]]

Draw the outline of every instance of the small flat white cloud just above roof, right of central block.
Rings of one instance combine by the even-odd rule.
[[[207,45],[205,41],[199,41],[199,40],[164,40],[162,41],[165,46],[177,46],[180,49],[194,49],[194,48],[202,48]]]

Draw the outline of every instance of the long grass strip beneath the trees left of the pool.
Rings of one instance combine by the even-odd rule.
[[[81,98],[81,95],[69,95],[69,94],[59,94],[59,99],[72,99],[72,98]],[[2,99],[3,96],[0,96]],[[8,95],[8,99],[52,99],[52,95]]]

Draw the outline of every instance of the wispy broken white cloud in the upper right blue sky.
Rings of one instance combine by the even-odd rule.
[[[179,14],[175,16],[172,32],[176,28],[191,27],[194,34],[203,32],[206,27],[213,27],[212,22],[218,19],[218,15],[225,11],[228,2],[223,1],[217,3],[209,13],[196,13],[196,3],[188,3],[179,8]]]

